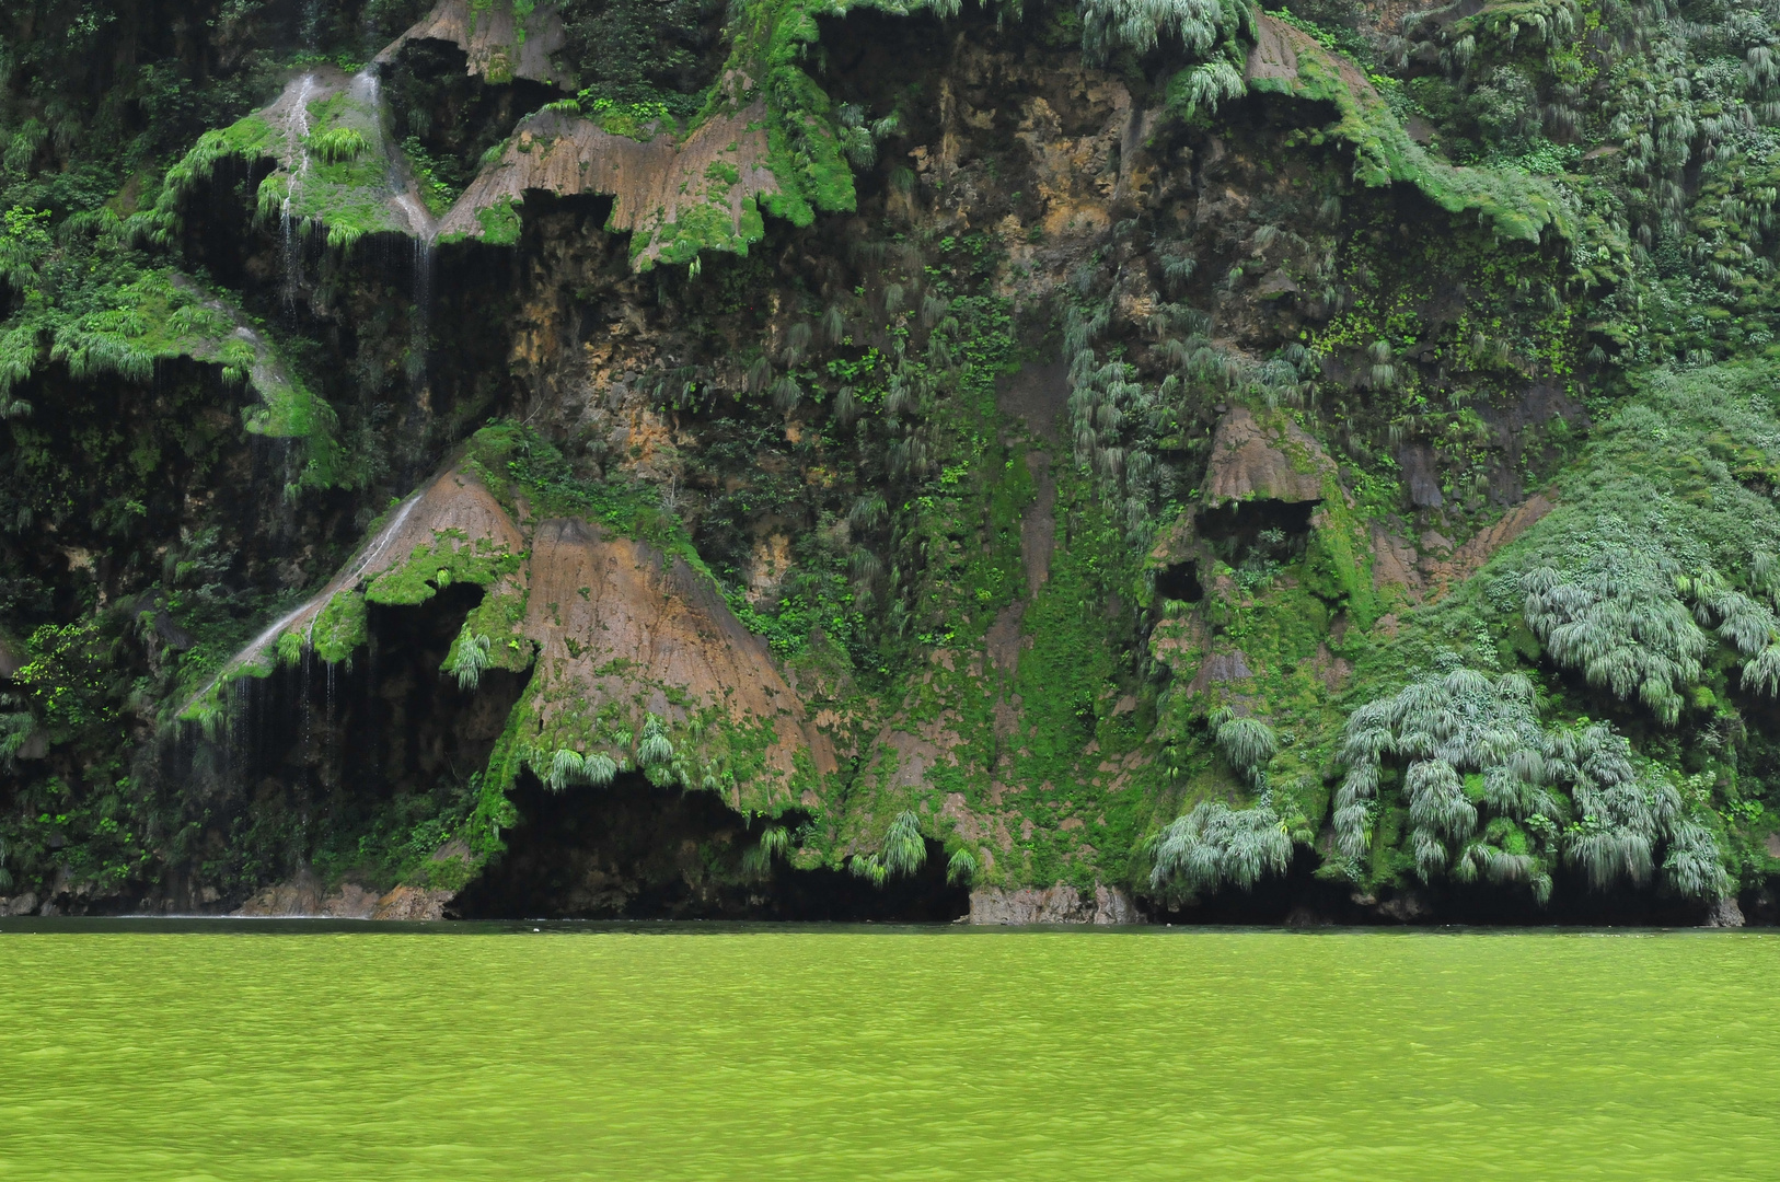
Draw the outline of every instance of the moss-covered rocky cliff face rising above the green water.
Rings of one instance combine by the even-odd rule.
[[[7,911],[1771,908],[1746,20],[64,7]]]

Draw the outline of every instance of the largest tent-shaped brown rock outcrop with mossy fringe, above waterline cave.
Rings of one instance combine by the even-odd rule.
[[[837,767],[831,741],[708,575],[582,518],[530,516],[523,495],[509,507],[463,465],[402,502],[319,595],[242,650],[187,716],[219,710],[221,685],[263,676],[304,648],[349,659],[365,643],[367,600],[420,603],[452,580],[484,586],[452,659],[475,644],[495,668],[530,671],[495,757],[491,774],[502,783],[525,767],[550,774],[557,751],[650,765],[637,753],[650,719],[678,751],[671,773],[662,771],[689,789],[723,792],[735,808],[808,805]]]

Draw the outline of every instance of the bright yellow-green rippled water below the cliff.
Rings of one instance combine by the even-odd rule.
[[[0,931],[0,1178],[1775,1178],[1780,936]]]

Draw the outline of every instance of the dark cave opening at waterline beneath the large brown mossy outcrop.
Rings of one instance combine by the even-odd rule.
[[[742,869],[767,824],[796,830],[805,817],[746,819],[714,792],[684,792],[623,774],[605,789],[552,792],[525,773],[509,792],[520,814],[507,849],[447,913],[457,919],[728,919],[949,922],[970,892],[945,881],[945,853],[881,888],[842,870],[796,870],[774,860],[764,876]]]

